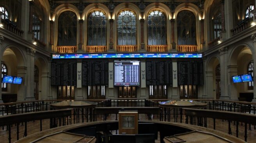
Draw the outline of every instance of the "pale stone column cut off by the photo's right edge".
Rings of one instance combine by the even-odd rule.
[[[253,58],[253,67],[256,67],[256,33],[251,35],[251,38],[253,40],[253,45],[254,45],[254,50],[252,51],[252,58]],[[255,68],[253,69],[253,99],[252,102],[256,102],[256,72],[255,72]]]

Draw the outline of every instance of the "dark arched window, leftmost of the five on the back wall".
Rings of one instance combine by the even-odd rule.
[[[62,12],[58,22],[58,45],[76,45],[76,14],[72,11]]]

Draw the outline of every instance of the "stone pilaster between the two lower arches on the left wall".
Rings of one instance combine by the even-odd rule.
[[[27,48],[26,100],[34,100],[34,56],[36,50]]]

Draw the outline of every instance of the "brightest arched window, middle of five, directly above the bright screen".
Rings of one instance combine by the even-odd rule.
[[[136,16],[123,10],[117,16],[117,45],[136,45]]]

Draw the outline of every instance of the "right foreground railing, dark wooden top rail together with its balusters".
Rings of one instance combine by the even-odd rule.
[[[239,122],[245,123],[245,136],[244,140],[247,141],[247,124],[256,125],[256,115],[250,115],[245,113],[234,113],[226,111],[213,111],[213,110],[202,110],[202,109],[189,109],[183,108],[186,116],[186,123],[190,120],[190,124],[196,125],[197,117],[197,126],[207,127],[207,118],[213,119],[213,129],[215,129],[215,119],[228,120],[228,134],[231,132],[231,121],[236,122],[236,137],[238,138],[238,124]]]

